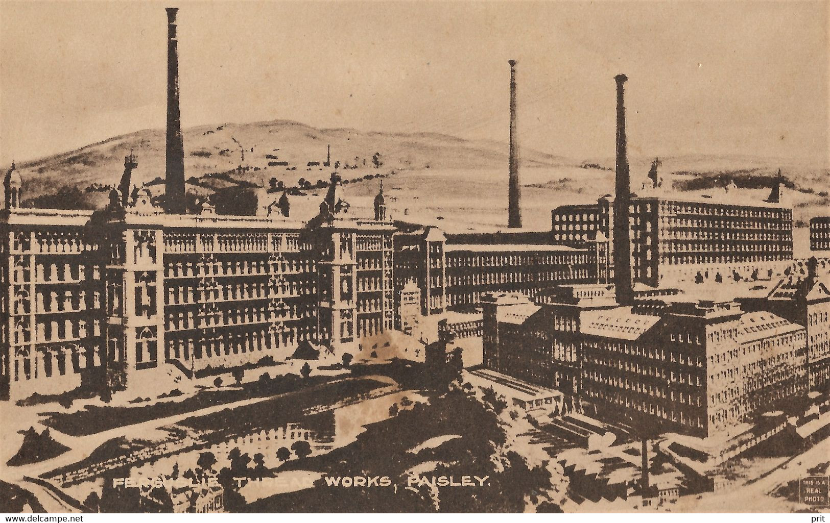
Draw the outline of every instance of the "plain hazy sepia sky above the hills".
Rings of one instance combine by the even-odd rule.
[[[828,161],[830,2],[11,2],[0,0],[0,164],[164,128],[178,13],[183,126],[322,128],[613,156]]]

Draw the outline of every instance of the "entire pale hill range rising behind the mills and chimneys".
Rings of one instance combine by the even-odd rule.
[[[124,157],[139,157],[136,185],[164,192],[164,130],[110,138],[68,153],[18,165],[28,205],[100,208],[124,170]],[[324,167],[326,146],[331,167]],[[506,143],[466,140],[438,133],[378,133],[313,128],[286,120],[227,123],[184,131],[185,173],[193,201],[233,199],[253,187],[281,182],[292,191],[292,215],[313,215],[335,168],[348,183],[357,211],[371,214],[378,175],[386,177],[390,210],[399,220],[446,230],[502,228],[506,220]],[[596,201],[613,191],[613,156],[585,160],[524,149],[521,180],[525,227],[549,229],[550,210]],[[373,160],[377,159],[379,165]],[[647,182],[652,158],[632,157],[632,191]],[[763,200],[781,169],[796,225],[830,208],[826,166],[780,158],[686,155],[662,157],[664,187],[689,195],[721,191],[735,182],[736,199]],[[281,165],[281,162],[287,162]],[[316,162],[309,166],[309,162]],[[300,186],[300,178],[305,185]],[[230,198],[227,196],[230,193]],[[305,209],[308,207],[308,209]],[[307,211],[307,212],[306,212]]]

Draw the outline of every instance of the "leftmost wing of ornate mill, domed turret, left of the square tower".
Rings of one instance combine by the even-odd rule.
[[[12,164],[0,210],[0,397],[71,390],[82,378],[99,380],[104,365],[104,268],[87,226],[92,213],[22,209],[21,186]]]

